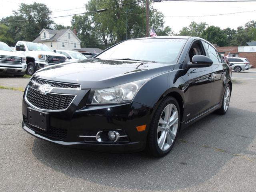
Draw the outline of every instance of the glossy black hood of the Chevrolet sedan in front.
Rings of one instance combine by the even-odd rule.
[[[45,80],[78,83],[82,89],[106,88],[152,78],[173,68],[173,64],[93,59],[56,64],[39,70],[34,76]]]

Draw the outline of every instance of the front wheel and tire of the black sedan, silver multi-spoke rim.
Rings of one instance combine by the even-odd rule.
[[[168,111],[170,114],[168,115]],[[167,116],[170,118],[167,118]],[[170,152],[180,129],[180,108],[177,100],[167,96],[159,104],[148,130],[147,150],[155,157]]]

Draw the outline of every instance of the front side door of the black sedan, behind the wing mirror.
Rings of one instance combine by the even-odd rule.
[[[201,40],[192,42],[186,60],[191,62],[196,54],[207,56]],[[188,102],[186,105],[187,120],[194,118],[211,107],[212,97],[212,67],[189,68],[188,74]]]

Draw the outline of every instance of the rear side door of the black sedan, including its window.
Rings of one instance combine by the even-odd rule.
[[[204,42],[204,46],[208,52],[209,57],[213,61],[213,88],[211,106],[215,106],[222,100],[222,95],[227,83],[227,76],[229,76],[229,67],[213,46],[207,42]]]

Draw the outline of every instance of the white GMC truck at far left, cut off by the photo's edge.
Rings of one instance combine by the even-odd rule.
[[[22,54],[14,52],[6,43],[0,42],[0,74],[23,77],[26,67],[26,58]]]

